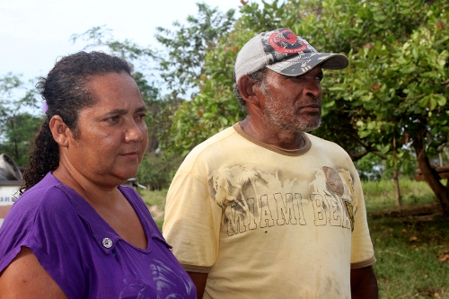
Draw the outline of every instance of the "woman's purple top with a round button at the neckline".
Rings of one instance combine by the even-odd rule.
[[[196,299],[195,286],[144,201],[130,187],[119,190],[145,230],[145,250],[121,239],[84,198],[48,173],[13,204],[4,219],[0,272],[24,246],[70,299]]]

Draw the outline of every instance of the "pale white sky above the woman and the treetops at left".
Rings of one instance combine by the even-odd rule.
[[[198,12],[201,0],[0,0],[0,77],[11,72],[23,81],[47,75],[57,57],[82,50],[70,40],[96,26],[112,30],[115,40],[161,47],[155,28],[172,27]],[[225,12],[240,0],[205,0]],[[257,1],[259,2],[259,1]]]

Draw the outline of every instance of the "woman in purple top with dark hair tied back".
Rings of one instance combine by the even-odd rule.
[[[119,186],[148,142],[128,63],[76,53],[38,87],[47,119],[0,229],[0,297],[196,298],[143,200]]]

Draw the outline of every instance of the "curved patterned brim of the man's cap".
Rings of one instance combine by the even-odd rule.
[[[315,66],[325,69],[343,69],[349,65],[348,57],[331,53],[303,53],[267,66],[282,75],[303,75]]]

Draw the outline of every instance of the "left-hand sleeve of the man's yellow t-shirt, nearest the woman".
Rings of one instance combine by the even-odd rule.
[[[167,194],[163,236],[186,271],[207,273],[214,265],[221,217],[206,179],[178,171]]]

